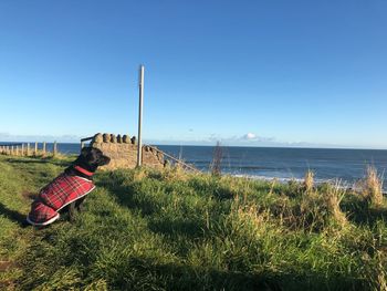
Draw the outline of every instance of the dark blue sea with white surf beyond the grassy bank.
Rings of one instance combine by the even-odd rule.
[[[1,145],[1,143],[0,143]],[[155,145],[165,153],[209,172],[213,159],[213,146]],[[41,144],[39,145],[41,148]],[[52,150],[53,144],[46,144]],[[63,154],[80,153],[80,144],[59,143]],[[352,187],[364,178],[366,168],[373,166],[385,180],[387,150],[333,149],[285,147],[221,147],[221,172],[255,179],[301,180],[312,170],[317,183],[338,180],[343,187]],[[384,190],[387,190],[384,183]]]

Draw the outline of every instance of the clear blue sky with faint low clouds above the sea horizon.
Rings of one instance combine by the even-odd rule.
[[[385,0],[0,0],[0,141],[387,148]]]

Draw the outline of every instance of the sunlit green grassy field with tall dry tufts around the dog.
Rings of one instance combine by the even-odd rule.
[[[355,194],[312,175],[282,185],[104,172],[74,224],[25,227],[31,197],[70,160],[0,156],[1,290],[387,289],[373,177]]]

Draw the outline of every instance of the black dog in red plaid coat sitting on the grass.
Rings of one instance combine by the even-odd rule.
[[[69,212],[74,220],[75,209],[82,209],[86,195],[95,186],[93,175],[98,166],[107,165],[111,158],[94,147],[84,147],[81,155],[63,174],[41,189],[32,202],[27,221],[34,226],[46,226],[55,221],[59,212]]]

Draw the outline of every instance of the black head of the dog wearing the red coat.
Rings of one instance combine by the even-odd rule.
[[[95,147],[83,147],[81,155],[74,162],[74,165],[95,172],[98,166],[107,165],[111,162],[108,156],[105,156],[101,149]]]

